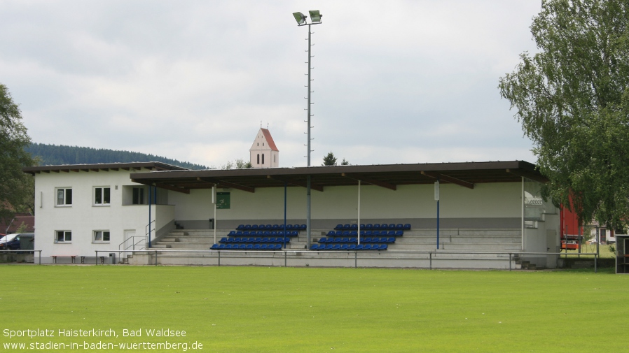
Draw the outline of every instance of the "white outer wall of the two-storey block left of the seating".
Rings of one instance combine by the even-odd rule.
[[[50,255],[93,257],[95,250],[116,250],[124,241],[125,230],[134,230],[136,236],[144,236],[148,206],[123,206],[123,186],[138,185],[131,182],[129,174],[129,171],[120,170],[35,175],[35,247],[43,250],[43,262],[50,262]],[[110,187],[109,206],[93,205],[95,186]],[[71,206],[55,206],[56,187],[72,188]],[[170,213],[172,217],[174,212],[171,210]],[[164,217],[168,217],[168,213]],[[162,220],[160,224],[164,222],[167,221]],[[61,230],[72,232],[71,242],[55,243],[55,231]],[[109,243],[93,242],[92,234],[96,230],[109,231]]]

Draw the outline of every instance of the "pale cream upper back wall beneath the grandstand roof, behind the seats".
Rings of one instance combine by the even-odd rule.
[[[478,184],[474,189],[441,184],[442,218],[520,218],[521,185],[518,182]],[[219,189],[230,192],[229,210],[217,210],[217,219],[282,219],[284,188],[257,188],[256,192]],[[193,189],[190,194],[170,192],[176,205],[175,219],[214,217],[210,189]],[[305,219],[306,189],[288,187],[288,219]],[[325,187],[312,190],[312,219],[352,219],[357,217],[358,187]],[[434,185],[399,185],[396,191],[373,185],[361,186],[361,219],[434,218]]]

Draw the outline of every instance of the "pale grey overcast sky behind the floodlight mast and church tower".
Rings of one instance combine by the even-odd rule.
[[[534,162],[499,78],[541,0],[0,2],[0,82],[35,143],[220,167],[262,122],[280,166]]]

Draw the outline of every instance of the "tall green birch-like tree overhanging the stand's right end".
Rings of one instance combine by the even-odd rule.
[[[550,179],[543,195],[581,224],[629,220],[628,24],[626,0],[543,0],[539,52],[499,82]]]

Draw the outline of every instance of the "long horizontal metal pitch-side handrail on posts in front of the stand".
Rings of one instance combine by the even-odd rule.
[[[96,265],[98,265],[98,253],[99,252],[111,252],[112,250],[95,250],[96,252]],[[115,251],[115,250],[114,250]],[[279,253],[284,253],[284,267],[286,267],[286,256],[289,253],[293,253],[293,254],[298,254],[298,253],[329,253],[329,254],[341,254],[341,253],[346,253],[346,254],[354,254],[354,267],[357,267],[357,259],[358,259],[358,254],[428,254],[429,255],[429,261],[430,261],[430,266],[429,268],[432,269],[432,260],[433,254],[495,254],[495,255],[509,255],[509,271],[512,271],[511,268],[511,261],[513,261],[513,256],[517,255],[571,255],[571,256],[580,256],[580,255],[594,255],[594,272],[597,273],[597,259],[599,257],[599,254],[597,254],[596,252],[581,252],[581,254],[566,254],[565,252],[517,252],[517,251],[511,251],[511,252],[459,252],[459,251],[444,251],[444,250],[387,250],[385,252],[374,252],[374,251],[358,251],[358,250],[172,250],[172,249],[151,249],[151,250],[121,250],[122,252],[133,252],[133,251],[141,251],[141,252],[147,252],[149,254],[153,254],[153,256],[155,256],[155,266],[158,265],[157,263],[157,259],[158,259],[158,252],[162,253],[168,253],[168,252],[172,252],[172,253],[177,253],[177,252],[186,252],[186,253],[190,253],[190,252],[198,252],[198,253],[216,253],[219,259],[219,266],[221,266],[221,252],[225,253],[225,254],[236,254],[236,253],[242,253],[242,252],[248,252],[248,253],[260,253],[260,254],[275,254],[277,252]],[[437,258],[435,258],[437,259]]]

